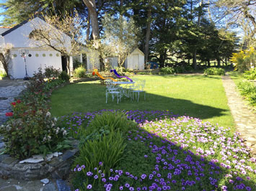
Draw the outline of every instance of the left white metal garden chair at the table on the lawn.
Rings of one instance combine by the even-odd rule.
[[[107,98],[108,95],[112,96],[112,101],[114,101],[115,97],[117,98],[117,102],[119,103],[119,101],[121,101],[121,97],[122,97],[122,90],[120,87],[118,87],[118,85],[114,85],[112,84],[112,80],[107,79],[106,80],[106,103],[107,103]]]

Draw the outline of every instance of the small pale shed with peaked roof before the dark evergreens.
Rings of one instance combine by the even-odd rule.
[[[136,48],[125,60],[125,68],[129,70],[144,70],[144,52]]]

